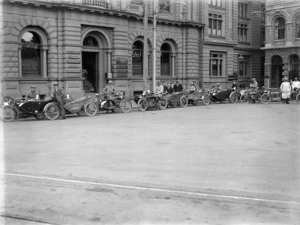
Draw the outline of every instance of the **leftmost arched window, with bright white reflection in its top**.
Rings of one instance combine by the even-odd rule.
[[[41,39],[39,35],[27,31],[22,35],[21,44],[22,76],[42,76]]]

